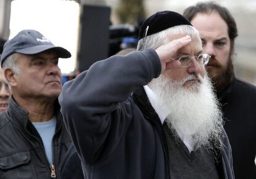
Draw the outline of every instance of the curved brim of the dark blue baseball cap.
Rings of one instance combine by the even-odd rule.
[[[33,54],[38,54],[40,52],[43,52],[45,50],[50,50],[50,49],[54,50],[58,54],[59,58],[71,57],[71,54],[68,50],[62,47],[56,47],[56,46],[50,46],[50,45],[27,47],[25,49],[16,50],[15,52],[18,52],[20,54],[33,55]]]

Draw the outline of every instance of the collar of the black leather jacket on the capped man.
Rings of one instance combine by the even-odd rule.
[[[56,115],[56,120],[57,120],[57,128],[56,132],[58,129],[61,128],[62,122],[62,115],[60,113],[60,105],[58,102],[58,98],[54,101],[54,111]],[[9,106],[7,108],[6,116],[8,117],[9,121],[12,122],[12,124],[17,125],[22,127],[23,129],[28,129],[29,126],[32,125],[32,122],[30,122],[29,117],[28,117],[28,111],[24,108],[21,108],[17,102],[14,100],[13,97],[10,98]]]

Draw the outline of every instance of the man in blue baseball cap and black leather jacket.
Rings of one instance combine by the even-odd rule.
[[[0,178],[59,178],[71,140],[58,103],[58,59],[70,56],[35,30],[4,44],[1,66],[12,97],[0,115]]]

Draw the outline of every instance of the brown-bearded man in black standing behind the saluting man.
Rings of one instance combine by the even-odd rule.
[[[198,2],[187,7],[184,16],[199,31],[204,52],[211,55],[206,69],[224,114],[235,177],[255,179],[256,87],[234,75],[233,54],[238,35],[234,17],[215,2]]]

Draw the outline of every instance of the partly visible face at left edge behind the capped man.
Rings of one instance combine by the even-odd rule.
[[[2,68],[0,68],[0,113],[7,109],[10,97],[11,92],[9,86],[4,79],[4,73],[2,72]]]

